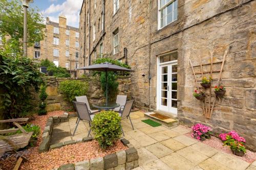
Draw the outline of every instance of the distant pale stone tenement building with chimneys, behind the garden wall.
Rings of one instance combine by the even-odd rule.
[[[65,16],[59,16],[59,22],[50,21],[47,17],[45,38],[28,48],[31,59],[48,59],[57,66],[74,71],[79,66],[80,56],[79,29],[67,26]]]

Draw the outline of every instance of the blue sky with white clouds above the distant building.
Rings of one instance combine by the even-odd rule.
[[[34,0],[32,6],[38,7],[45,17],[58,22],[58,16],[67,17],[67,25],[79,27],[79,13],[82,0]]]

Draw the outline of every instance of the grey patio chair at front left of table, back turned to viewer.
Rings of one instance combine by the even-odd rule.
[[[76,129],[78,127],[78,124],[79,124],[80,120],[82,120],[82,121],[86,120],[86,121],[89,122],[89,125],[90,125],[90,130],[89,130],[88,135],[87,135],[87,137],[89,137],[89,135],[91,133],[91,122],[93,120],[94,115],[90,114],[90,111],[89,111],[86,103],[76,102],[76,101],[73,101],[73,103],[74,103],[74,106],[75,106],[76,111],[77,111],[78,121],[76,123],[76,128],[75,128],[74,133],[73,133],[72,136],[75,135]]]

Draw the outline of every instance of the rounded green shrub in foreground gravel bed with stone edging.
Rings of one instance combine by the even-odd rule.
[[[120,123],[121,117],[114,111],[103,111],[94,116],[92,131],[102,149],[112,146],[120,138]]]

